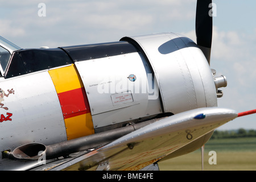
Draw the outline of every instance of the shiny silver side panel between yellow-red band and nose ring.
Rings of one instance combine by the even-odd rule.
[[[75,62],[94,129],[162,113],[154,76],[139,52]],[[136,80],[131,81],[130,75]],[[157,84],[155,84],[157,85]]]

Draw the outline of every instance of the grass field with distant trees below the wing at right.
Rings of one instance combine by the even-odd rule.
[[[209,164],[216,152],[216,164]],[[159,163],[161,171],[196,171],[201,170],[201,152],[179,156]],[[214,139],[205,144],[205,171],[256,171],[256,138]]]

